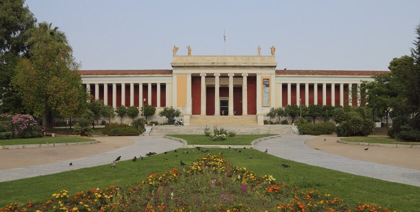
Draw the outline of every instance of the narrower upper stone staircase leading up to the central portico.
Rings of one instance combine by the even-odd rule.
[[[255,115],[248,116],[200,116],[192,115],[189,120],[191,126],[205,125],[258,125]]]

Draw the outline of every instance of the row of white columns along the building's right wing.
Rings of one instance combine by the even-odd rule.
[[[287,83],[287,104],[291,105],[291,84],[296,84],[296,103],[300,101],[300,83]],[[318,104],[318,84],[313,83],[313,103]],[[326,84],[322,84],[322,105],[326,105]],[[357,85],[357,99],[360,99],[360,83],[330,83],[331,84],[331,105],[335,106],[335,84],[339,84],[339,105],[344,106],[344,84],[348,84],[349,88],[352,88],[353,84]],[[305,85],[305,102],[306,106],[309,106],[309,83],[304,83]],[[279,86],[279,102],[282,105],[282,84]],[[348,89],[348,105],[352,105],[352,89]],[[303,104],[303,103],[301,103]],[[360,106],[360,101],[357,101],[357,106]]]

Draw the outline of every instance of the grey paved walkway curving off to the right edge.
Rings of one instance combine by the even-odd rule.
[[[254,147],[260,151],[268,149],[268,153],[271,155],[312,166],[384,181],[420,186],[420,170],[359,161],[324,153],[304,144],[304,141],[311,138],[314,138],[314,136],[281,136],[262,141]]]

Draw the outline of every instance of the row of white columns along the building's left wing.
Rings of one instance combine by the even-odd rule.
[[[121,105],[125,105],[125,83],[112,83],[112,107],[116,107],[116,84],[121,84]],[[130,106],[134,105],[134,83],[130,84]],[[139,83],[138,86],[138,105],[151,104],[151,84],[147,83],[147,102],[143,101],[143,86],[142,83]],[[166,83],[164,83],[166,85]],[[108,84],[103,84],[103,104],[107,105],[108,103]],[[141,85],[141,86],[140,86]],[[95,86],[95,99],[99,99],[99,83],[94,83]],[[167,86],[167,85],[166,85]],[[86,92],[90,94],[90,84],[86,83]],[[160,83],[156,83],[156,106],[160,107]],[[167,89],[166,89],[166,103],[167,99]]]

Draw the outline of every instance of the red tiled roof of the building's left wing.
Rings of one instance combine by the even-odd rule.
[[[148,70],[79,70],[80,75],[167,75],[172,74],[170,69],[148,69]]]

